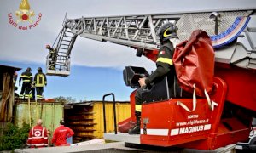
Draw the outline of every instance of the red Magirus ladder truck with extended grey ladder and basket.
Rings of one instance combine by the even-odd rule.
[[[207,105],[208,99],[198,99],[203,105],[191,112],[178,106],[177,101],[183,101],[185,105],[192,107],[192,99],[168,97],[157,100],[159,103],[153,100],[154,103],[143,105],[140,135],[131,137],[106,133],[105,137],[113,140],[126,138],[125,142],[131,144],[178,146],[199,150],[214,150],[224,145],[236,144],[248,138],[252,118],[256,116],[255,11],[256,8],[241,8],[65,18],[54,47],[57,59],[50,61],[49,55],[47,57],[47,74],[70,74],[70,54],[77,36],[134,48],[137,56],[144,55],[155,61],[160,48],[156,31],[164,23],[172,22],[178,27],[177,35],[181,41],[189,39],[192,31],[197,29],[207,31],[215,50],[216,91],[210,95],[210,99],[218,103],[216,109]],[[55,62],[53,69],[49,69],[50,62]],[[137,70],[142,69],[129,67],[124,74],[128,71],[137,75]],[[137,82],[132,82],[134,75],[124,77],[126,85],[132,88],[137,87]],[[135,120],[134,94],[135,91],[131,93],[131,118],[120,124]],[[156,114],[160,116],[155,116]],[[161,117],[161,121],[157,117]]]

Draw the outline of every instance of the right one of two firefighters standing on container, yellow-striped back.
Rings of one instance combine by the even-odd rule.
[[[44,86],[47,85],[47,79],[41,67],[38,67],[38,73],[34,77],[33,85],[36,87],[37,99],[44,99],[43,92]]]

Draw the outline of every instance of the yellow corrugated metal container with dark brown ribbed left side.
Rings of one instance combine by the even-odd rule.
[[[107,132],[114,131],[113,103],[106,102],[106,127]],[[129,102],[116,102],[117,123],[131,116]],[[103,105],[101,101],[91,101],[65,105],[65,121],[75,133],[74,142],[102,138],[104,133]]]

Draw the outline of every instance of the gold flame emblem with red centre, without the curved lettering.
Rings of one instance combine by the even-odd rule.
[[[31,17],[35,15],[34,11],[30,10],[28,0],[22,0],[20,3],[20,10],[16,11],[16,16],[19,18],[17,23],[20,21],[29,21],[32,23]]]

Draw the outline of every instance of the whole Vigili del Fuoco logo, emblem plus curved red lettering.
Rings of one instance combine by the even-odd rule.
[[[41,18],[41,13],[36,15],[34,11],[31,10],[28,0],[21,0],[19,10],[15,12],[15,15],[12,13],[8,14],[9,24],[23,31],[38,26]]]

